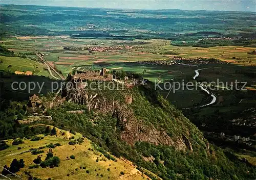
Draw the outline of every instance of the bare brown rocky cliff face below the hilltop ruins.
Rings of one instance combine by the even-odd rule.
[[[118,119],[116,124],[121,129],[120,137],[127,143],[134,145],[138,141],[145,141],[155,145],[172,145],[178,150],[193,150],[187,133],[180,137],[171,138],[164,128],[154,126],[152,123],[145,123],[139,119],[131,108],[133,104],[133,95],[129,92],[116,92],[121,94],[121,98],[115,99],[106,97],[103,91],[89,92],[84,89],[67,90],[64,87],[62,96],[66,100],[86,105],[89,110],[98,113],[110,113]],[[188,133],[189,134],[189,133]]]

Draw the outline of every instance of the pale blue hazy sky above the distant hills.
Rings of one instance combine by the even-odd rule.
[[[185,9],[256,12],[256,0],[0,0],[0,4],[122,9]]]

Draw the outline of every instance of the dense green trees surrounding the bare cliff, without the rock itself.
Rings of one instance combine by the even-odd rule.
[[[131,146],[121,140],[120,133],[123,130],[116,116],[96,114],[93,111],[88,111],[86,106],[72,102],[65,102],[58,108],[49,109],[47,115],[52,116],[51,125],[83,134],[92,140],[95,148],[109,159],[112,159],[112,156],[106,151],[117,157],[123,156],[137,164],[139,169],[146,168],[163,179],[208,179],[208,177],[249,179],[255,177],[255,167],[240,162],[235,156],[226,156],[226,152],[216,146],[209,145],[207,147],[208,142],[203,139],[202,133],[198,131],[197,127],[157,92],[143,87],[130,91],[136,98],[129,107],[139,120],[143,120],[145,124],[153,124],[158,129],[164,128],[172,139],[182,137],[183,133],[189,129],[188,138],[193,146],[193,151],[177,150],[174,146],[153,145],[146,142],[137,142]],[[115,98],[120,99],[120,103],[123,103],[121,92],[114,94]],[[7,119],[8,114],[12,112],[12,116],[14,116],[16,112],[19,112],[17,107],[22,108],[23,106],[19,106],[17,102],[11,102],[8,107],[12,107],[12,109],[6,108],[4,112],[1,112]],[[84,110],[84,113],[68,113],[72,110]],[[50,126],[38,126],[38,130],[31,130],[29,126],[17,124],[16,133],[14,133],[13,125],[9,124],[15,124],[15,118],[5,121],[4,126],[8,127],[8,132],[10,131],[12,134],[7,132],[2,138],[24,137],[24,130],[28,131],[30,136],[36,133],[52,132]],[[80,141],[82,139],[70,142],[75,144]],[[143,157],[150,157],[152,161],[144,161]],[[59,163],[59,159],[54,157],[52,152],[48,152],[47,158],[40,163],[40,166],[54,167]]]

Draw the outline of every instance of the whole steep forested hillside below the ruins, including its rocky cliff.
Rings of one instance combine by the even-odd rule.
[[[48,109],[46,115],[52,120],[36,123],[79,132],[101,150],[134,162],[141,171],[145,168],[163,179],[250,179],[256,176],[255,167],[240,161],[231,151],[209,145],[195,125],[149,87],[97,93],[63,89],[63,93],[71,102]],[[24,102],[3,106],[1,138],[41,133],[16,120],[26,116]]]

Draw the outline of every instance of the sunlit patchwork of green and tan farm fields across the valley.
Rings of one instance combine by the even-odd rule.
[[[172,68],[152,68],[148,65],[136,65],[138,61],[149,60],[169,60],[175,56],[182,58],[216,58],[230,64],[254,66],[256,65],[256,56],[248,53],[255,50],[253,47],[242,46],[217,46],[217,47],[178,47],[169,45],[168,40],[99,40],[99,39],[72,39],[69,36],[37,36],[37,37],[16,37],[3,38],[2,44],[16,54],[40,52],[45,55],[45,60],[49,61],[51,66],[56,66],[64,75],[72,72],[78,67],[106,67],[108,69],[120,68],[119,70],[134,71],[143,73],[144,78],[154,81],[160,74],[172,70]],[[94,52],[88,50],[71,51],[63,47],[91,47],[91,46],[125,46],[131,45],[134,48],[117,50],[115,52]],[[163,55],[163,53],[174,55]],[[32,55],[32,57],[34,57]],[[163,79],[172,79],[167,74]]]

